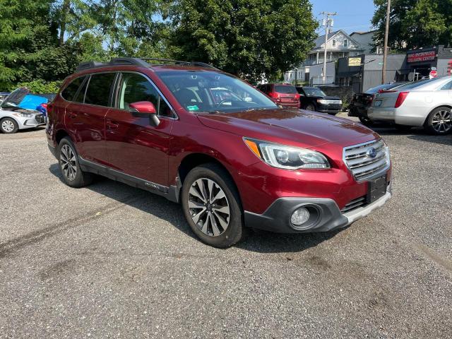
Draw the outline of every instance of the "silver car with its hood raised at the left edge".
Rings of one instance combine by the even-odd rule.
[[[46,117],[41,112],[34,109],[23,109],[18,106],[29,92],[28,88],[18,88],[1,102],[1,132],[16,133],[19,129],[32,129],[46,123]]]

